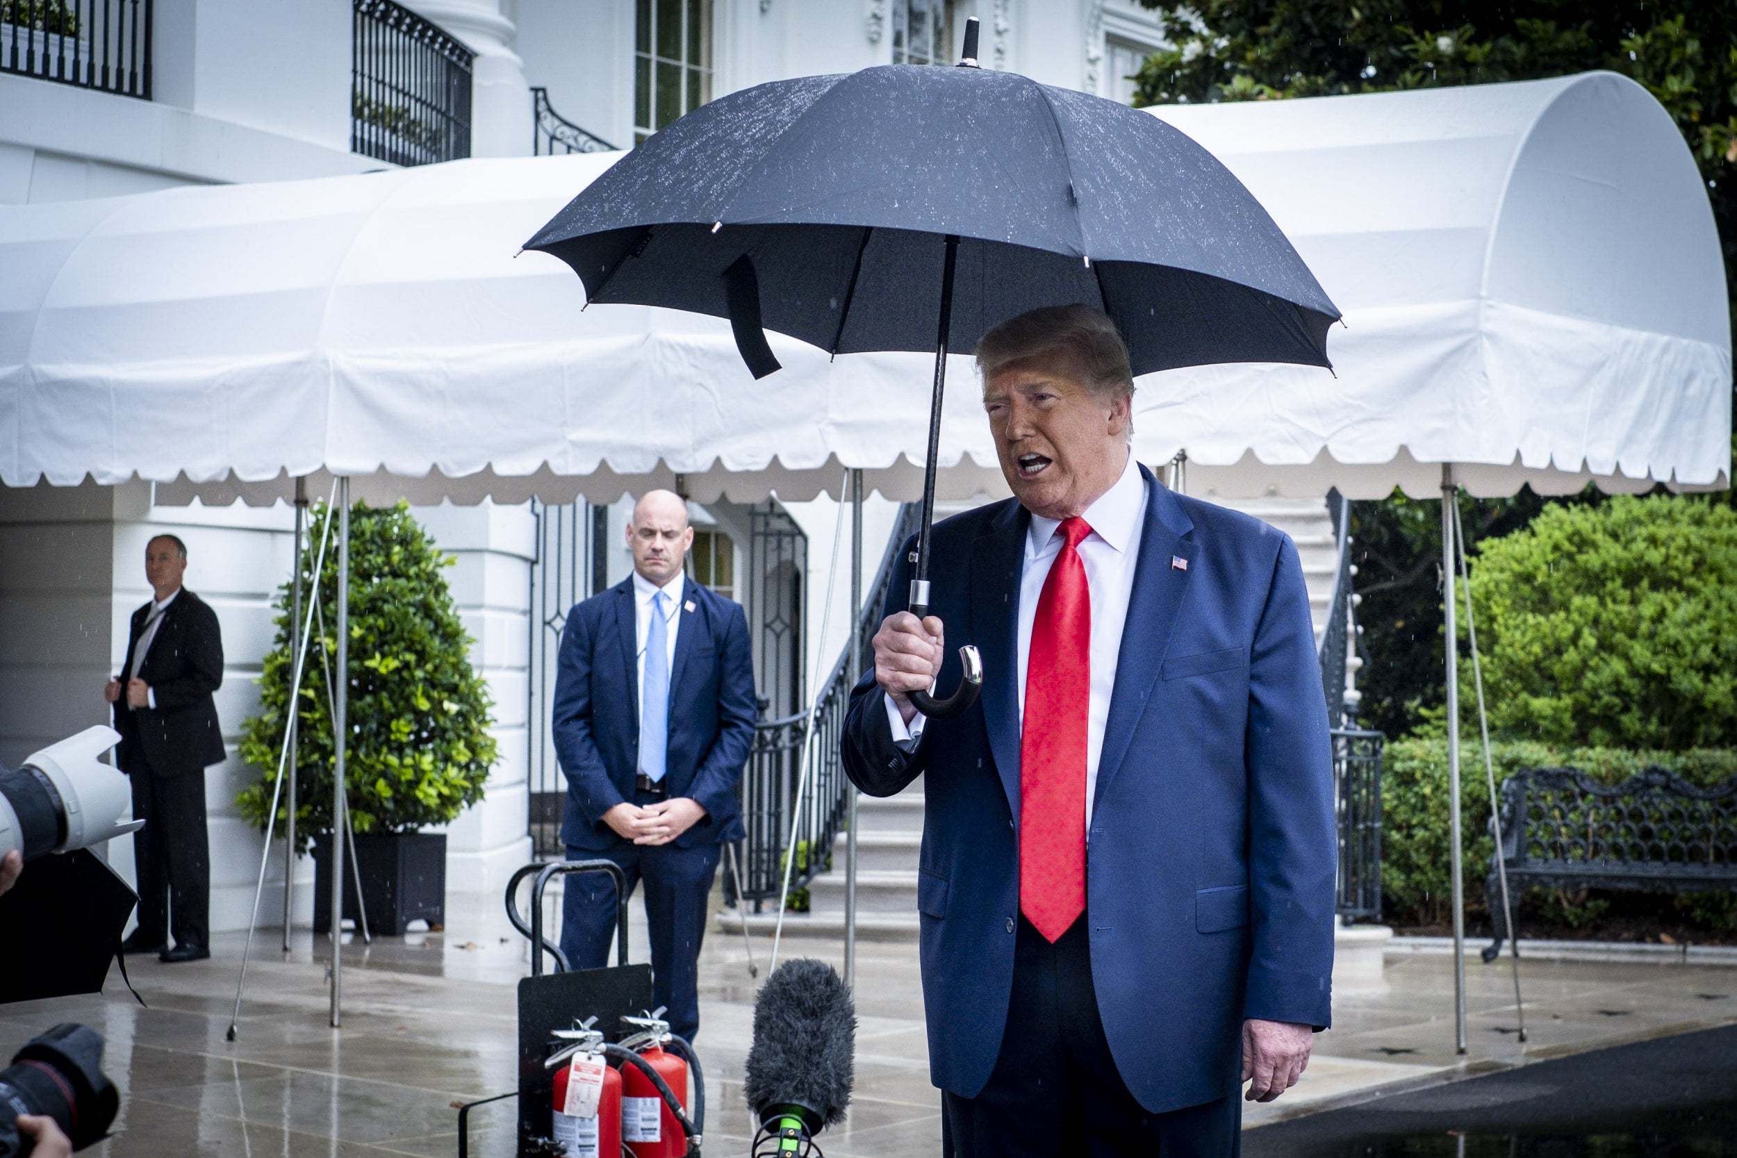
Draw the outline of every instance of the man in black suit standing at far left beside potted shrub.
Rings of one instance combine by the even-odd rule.
[[[132,613],[127,661],[104,688],[120,733],[116,762],[132,778],[139,927],[127,953],[165,962],[210,957],[210,845],[205,769],[224,759],[212,693],[222,686],[217,613],[181,585],[188,547],[158,535],[144,547],[153,599]],[[168,946],[174,929],[175,946]]]

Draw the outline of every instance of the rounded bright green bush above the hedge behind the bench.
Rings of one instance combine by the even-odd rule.
[[[1737,745],[1737,510],[1666,495],[1546,507],[1483,543],[1471,592],[1499,734]]]

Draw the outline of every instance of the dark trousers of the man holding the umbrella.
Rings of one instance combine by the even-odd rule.
[[[941,1094],[952,1158],[1237,1158],[1240,1090],[1162,1115],[1122,1085],[1098,1017],[1086,918],[1051,944],[1020,917],[1007,1030],[976,1097]]]

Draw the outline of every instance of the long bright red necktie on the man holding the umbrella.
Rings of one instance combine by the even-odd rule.
[[[1032,622],[1020,733],[1020,911],[1054,943],[1086,911],[1086,714],[1091,707],[1091,592],[1079,543],[1061,523]]]

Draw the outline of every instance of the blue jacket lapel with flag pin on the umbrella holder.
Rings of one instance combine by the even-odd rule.
[[[1134,740],[1152,688],[1164,667],[1164,653],[1176,627],[1183,597],[1188,594],[1188,576],[1193,568],[1181,569],[1174,559],[1193,561],[1199,545],[1186,535],[1193,521],[1167,488],[1159,486],[1145,467],[1146,519],[1139,533],[1139,559],[1134,563],[1134,590],[1127,601],[1127,622],[1122,627],[1122,649],[1115,660],[1115,691],[1110,696],[1110,719],[1103,729],[1103,750],[1098,755],[1098,790],[1093,807],[1103,800],[1105,790],[1122,767],[1127,745]]]

